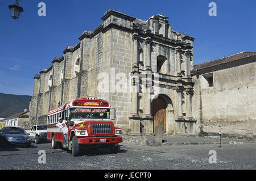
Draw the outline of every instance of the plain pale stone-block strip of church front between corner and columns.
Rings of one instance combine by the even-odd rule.
[[[131,33],[112,29],[110,51],[110,103],[115,107],[115,124],[129,129],[130,90],[129,73],[132,61]]]

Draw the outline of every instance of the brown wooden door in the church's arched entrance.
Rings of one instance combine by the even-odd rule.
[[[166,107],[167,104],[163,98],[152,100],[151,115],[154,117],[154,132],[159,122],[162,123],[163,133],[166,132]]]

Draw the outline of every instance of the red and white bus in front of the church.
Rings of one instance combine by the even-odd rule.
[[[115,110],[113,111],[115,117]],[[64,136],[56,127],[59,117],[68,121],[68,150],[78,156],[89,146],[108,147],[112,153],[119,150],[122,131],[110,120],[109,102],[97,98],[79,98],[48,112],[47,139],[53,149],[64,146]]]

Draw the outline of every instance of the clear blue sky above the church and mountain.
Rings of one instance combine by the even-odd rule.
[[[254,0],[22,0],[18,20],[10,16],[8,5],[14,2],[5,0],[0,6],[0,92],[5,94],[32,95],[34,75],[65,47],[78,43],[84,30],[96,28],[108,9],[143,20],[169,17],[173,30],[195,37],[194,64],[256,51]],[[46,3],[46,16],[38,16],[39,2]],[[216,3],[217,16],[209,16],[210,2]]]

